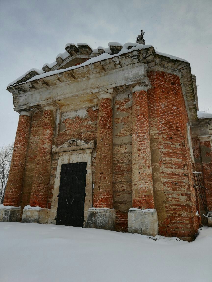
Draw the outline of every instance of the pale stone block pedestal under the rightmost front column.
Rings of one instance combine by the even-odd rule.
[[[128,232],[155,237],[158,235],[157,211],[131,208],[128,211]]]

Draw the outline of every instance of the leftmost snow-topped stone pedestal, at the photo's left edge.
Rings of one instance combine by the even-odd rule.
[[[20,222],[21,207],[0,205],[0,221]]]

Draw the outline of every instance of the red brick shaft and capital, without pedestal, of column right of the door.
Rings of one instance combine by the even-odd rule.
[[[113,208],[113,96],[99,93],[93,206]]]

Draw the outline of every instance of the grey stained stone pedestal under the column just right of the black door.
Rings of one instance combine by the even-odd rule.
[[[115,230],[115,210],[108,208],[88,209],[86,226],[87,228],[98,228]]]

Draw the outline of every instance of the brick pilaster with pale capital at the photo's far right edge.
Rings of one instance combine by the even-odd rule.
[[[202,156],[203,178],[205,183],[206,199],[209,211],[212,211],[212,136],[198,136]]]

